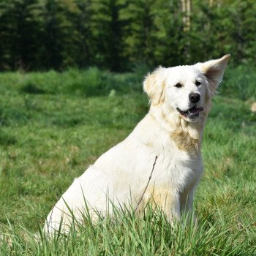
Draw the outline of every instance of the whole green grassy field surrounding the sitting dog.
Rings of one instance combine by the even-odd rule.
[[[34,241],[72,180],[146,114],[145,72],[0,75],[0,255],[256,255],[256,72],[247,67],[230,67],[214,98],[197,227],[172,228],[149,209]]]

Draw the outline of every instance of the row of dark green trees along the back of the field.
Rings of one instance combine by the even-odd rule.
[[[0,70],[254,64],[255,0],[1,0]]]

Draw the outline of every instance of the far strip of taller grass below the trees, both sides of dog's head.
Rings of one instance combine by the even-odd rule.
[[[143,76],[147,69],[135,68],[135,72],[113,73],[90,67],[86,70],[68,69],[64,72],[31,72],[23,74],[2,73],[1,88],[18,89],[24,94],[73,94],[83,97],[142,91]],[[227,69],[219,92],[238,99],[255,99],[255,67],[239,66]]]

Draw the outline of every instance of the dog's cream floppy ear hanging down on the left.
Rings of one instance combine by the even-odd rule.
[[[152,105],[158,105],[164,99],[165,89],[165,68],[158,67],[148,73],[143,82],[143,90],[146,91]]]

